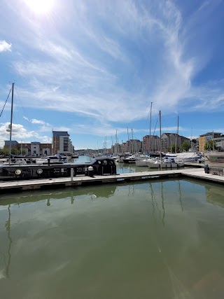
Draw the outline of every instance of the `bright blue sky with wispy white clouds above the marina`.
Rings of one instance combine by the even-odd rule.
[[[224,133],[222,0],[0,0],[0,109],[13,140],[102,148],[150,132]],[[0,118],[9,139],[10,97]]]

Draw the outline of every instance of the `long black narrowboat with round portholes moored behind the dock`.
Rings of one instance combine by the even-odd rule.
[[[72,170],[73,169],[73,170]],[[94,176],[116,173],[116,162],[111,158],[94,158],[92,162],[62,164],[1,165],[0,181],[48,179],[67,176]]]

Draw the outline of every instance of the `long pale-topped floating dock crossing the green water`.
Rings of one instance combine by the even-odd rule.
[[[203,168],[162,170],[155,172],[134,172],[108,176],[74,176],[66,178],[36,179],[27,181],[0,182],[0,193],[20,192],[24,190],[45,190],[51,188],[66,188],[87,185],[102,185],[104,183],[118,183],[130,181],[147,181],[155,179],[173,179],[188,177],[214,183],[224,184],[224,176],[206,174]]]

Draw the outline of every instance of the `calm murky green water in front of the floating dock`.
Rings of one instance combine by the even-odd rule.
[[[223,298],[223,190],[167,180],[1,195],[0,298]]]

